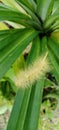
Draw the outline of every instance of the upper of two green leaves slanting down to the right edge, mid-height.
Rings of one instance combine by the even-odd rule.
[[[59,43],[53,39],[49,39],[48,46],[59,60]]]

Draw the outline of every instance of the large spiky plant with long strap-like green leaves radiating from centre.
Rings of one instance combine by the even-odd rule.
[[[59,1],[1,0],[1,2],[3,4],[0,4],[0,21],[11,28],[0,31],[0,78],[32,42],[26,61],[26,68],[29,66],[29,69],[23,71],[23,79],[25,82],[29,79],[29,84],[25,83],[28,87],[23,89],[22,86],[18,90],[7,130],[38,130],[45,73],[48,70],[44,61],[42,65],[44,74],[39,74],[40,65],[37,70],[37,63],[34,61],[41,56],[45,57],[45,60],[48,58],[52,73],[59,84],[59,44],[53,34],[58,32],[59,36]],[[34,65],[30,66],[31,63]],[[32,81],[34,73],[31,75],[30,72],[33,67],[36,73],[35,82]]]

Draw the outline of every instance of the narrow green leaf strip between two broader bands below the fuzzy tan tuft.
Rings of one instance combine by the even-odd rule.
[[[19,115],[18,115],[18,120],[17,120],[17,125],[16,125],[15,130],[19,130],[19,129],[23,130],[25,116],[26,116],[26,112],[27,112],[27,108],[28,108],[28,104],[29,104],[30,93],[31,93],[30,88],[25,90],[25,94],[24,94],[22,105],[21,105],[21,109],[19,109],[20,112],[19,112]]]

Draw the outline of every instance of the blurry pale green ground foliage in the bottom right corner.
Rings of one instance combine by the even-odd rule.
[[[57,108],[58,109],[58,108]],[[45,110],[45,113],[43,112]],[[59,129],[59,118],[55,115],[58,114],[55,110],[51,108],[51,103],[49,100],[44,101],[41,105],[41,114],[39,120],[39,129],[41,130],[58,130]]]

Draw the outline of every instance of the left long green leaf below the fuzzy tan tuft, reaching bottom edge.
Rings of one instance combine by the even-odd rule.
[[[17,125],[18,125],[18,121],[19,121],[19,115],[21,117],[21,110],[23,109],[23,105],[24,107],[26,107],[25,103],[26,101],[28,102],[28,97],[29,97],[29,90],[25,89],[20,89],[17,93],[16,99],[15,99],[15,103],[14,103],[14,107],[10,116],[10,120],[7,126],[7,130],[16,130],[17,129]],[[25,109],[26,111],[26,109]],[[24,110],[23,110],[24,112]],[[23,116],[23,115],[22,115]],[[21,119],[22,121],[22,119]],[[22,123],[22,122],[21,122]],[[20,124],[21,126],[21,124]]]

